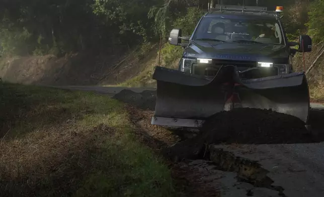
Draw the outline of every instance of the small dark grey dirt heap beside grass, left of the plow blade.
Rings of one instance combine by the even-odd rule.
[[[123,89],[112,98],[142,110],[155,110],[156,91],[153,90],[144,90],[138,93]]]

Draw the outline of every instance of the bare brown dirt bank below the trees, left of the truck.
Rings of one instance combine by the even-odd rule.
[[[115,85],[149,75],[158,64],[158,44],[139,45],[129,51],[80,52],[0,59],[0,77],[23,84]],[[146,76],[145,82],[150,80]]]

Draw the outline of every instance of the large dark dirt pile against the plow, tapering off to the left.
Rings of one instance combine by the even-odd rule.
[[[304,122],[271,110],[237,108],[206,120],[200,135],[165,150],[172,159],[197,159],[208,154],[209,144],[311,143]]]

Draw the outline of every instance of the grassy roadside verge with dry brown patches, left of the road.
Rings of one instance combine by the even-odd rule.
[[[104,95],[0,83],[1,196],[173,196],[171,172]]]

